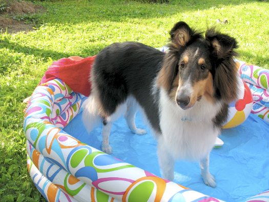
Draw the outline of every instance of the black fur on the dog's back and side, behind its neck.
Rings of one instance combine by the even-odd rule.
[[[96,77],[100,101],[108,114],[133,95],[158,131],[158,103],[151,93],[152,82],[163,63],[163,52],[136,42],[114,43],[97,55],[92,75]],[[148,100],[151,100],[149,102]]]

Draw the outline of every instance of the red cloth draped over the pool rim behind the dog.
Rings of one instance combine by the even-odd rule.
[[[90,95],[90,70],[96,56],[81,58],[72,56],[52,63],[45,72],[40,84],[53,79],[64,81],[73,91],[85,96]]]

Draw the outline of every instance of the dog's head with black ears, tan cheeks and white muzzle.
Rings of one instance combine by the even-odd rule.
[[[170,31],[171,43],[158,75],[158,85],[172,101],[188,109],[203,96],[211,102],[230,103],[237,96],[234,38],[208,29],[201,32],[178,22]]]

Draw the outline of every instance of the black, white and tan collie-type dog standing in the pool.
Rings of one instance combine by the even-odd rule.
[[[136,42],[101,50],[82,119],[88,131],[102,121],[101,148],[110,154],[110,128],[122,113],[133,133],[146,133],[135,125],[139,108],[158,141],[163,178],[174,179],[176,159],[199,160],[204,183],[215,187],[209,155],[237,98],[237,43],[214,29],[204,37],[184,22],[170,36],[167,53]]]

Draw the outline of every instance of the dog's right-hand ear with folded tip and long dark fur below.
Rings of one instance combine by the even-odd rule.
[[[216,32],[213,28],[206,31],[205,40],[209,43],[212,61],[215,63],[213,70],[216,96],[229,104],[237,98],[238,92],[238,74],[234,61],[237,56],[237,42],[231,36]]]

